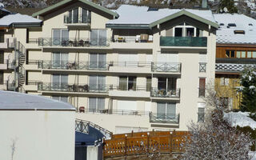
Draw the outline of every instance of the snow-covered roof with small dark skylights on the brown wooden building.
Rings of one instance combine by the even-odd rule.
[[[244,14],[214,14],[214,18],[220,26],[216,33],[218,44],[256,44],[256,20],[254,18]],[[236,26],[228,28],[230,23]],[[234,30],[244,30],[245,34],[234,34]]]

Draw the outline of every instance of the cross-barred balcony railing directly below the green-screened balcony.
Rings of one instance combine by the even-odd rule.
[[[181,72],[181,63],[179,62],[152,62],[153,72]]]

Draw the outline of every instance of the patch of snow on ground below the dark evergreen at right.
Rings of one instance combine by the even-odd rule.
[[[252,129],[256,129],[256,122],[249,117],[248,112],[224,113],[224,118],[227,118],[232,126],[250,126]]]

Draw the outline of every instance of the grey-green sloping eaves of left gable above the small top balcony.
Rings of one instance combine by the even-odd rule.
[[[90,2],[90,1],[87,1],[87,0],[63,0],[61,2],[58,2],[58,3],[54,4],[53,6],[49,6],[46,9],[40,10],[40,11],[32,14],[32,16],[36,17],[36,16],[41,15],[41,14],[46,14],[50,10],[54,10],[54,9],[56,9],[56,8],[62,6],[62,5],[65,5],[66,3],[72,2],[72,1],[79,1],[79,2],[86,3],[89,6],[93,6],[94,8],[96,8],[98,10],[102,10],[103,12],[106,12],[107,14],[113,15],[114,17],[118,18],[118,14],[116,12],[114,12],[112,10],[108,10],[103,6],[99,6],[99,5],[95,4],[94,2]]]

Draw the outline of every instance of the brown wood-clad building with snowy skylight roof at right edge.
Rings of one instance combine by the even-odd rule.
[[[242,102],[240,74],[245,67],[256,67],[256,20],[243,14],[214,14],[217,31],[216,80],[220,97],[230,109]]]

